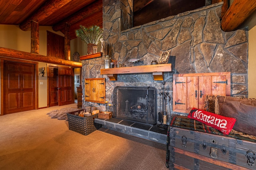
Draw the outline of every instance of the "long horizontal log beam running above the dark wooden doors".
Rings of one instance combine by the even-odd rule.
[[[82,63],[0,47],[0,56],[81,68]]]

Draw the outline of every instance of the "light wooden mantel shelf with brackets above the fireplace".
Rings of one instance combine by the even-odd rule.
[[[154,80],[164,80],[164,72],[172,72],[172,64],[155,64],[100,69],[100,74],[107,74],[108,78],[112,81],[117,80],[117,74],[140,74],[151,72],[154,76]]]

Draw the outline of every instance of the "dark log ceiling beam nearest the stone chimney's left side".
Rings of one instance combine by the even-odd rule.
[[[86,6],[86,8],[83,8],[73,14],[72,16],[66,18],[65,20],[62,20],[61,22],[57,23],[52,27],[54,31],[60,31],[64,28],[65,23],[68,23],[69,25],[73,25],[74,23],[77,23],[81,20],[84,20],[85,18],[88,18],[92,16],[93,14],[101,11],[102,12],[103,3],[102,0],[97,0],[96,2],[90,4],[89,6]],[[103,12],[102,12],[103,13]],[[88,19],[90,20],[90,19]],[[77,28],[78,29],[78,28]]]

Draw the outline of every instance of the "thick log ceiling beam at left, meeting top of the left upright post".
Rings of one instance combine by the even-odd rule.
[[[39,22],[46,19],[54,12],[61,10],[63,6],[70,3],[72,0],[47,0],[46,3],[38,9],[32,16],[28,17],[20,24],[20,29],[28,31],[31,26],[31,20]],[[39,22],[40,23],[40,22]]]

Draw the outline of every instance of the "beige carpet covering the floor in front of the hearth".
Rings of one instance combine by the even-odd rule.
[[[0,170],[167,170],[166,146],[101,128],[84,136],[46,113],[0,116]]]

